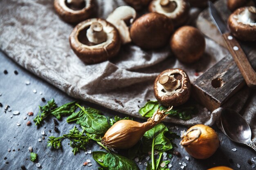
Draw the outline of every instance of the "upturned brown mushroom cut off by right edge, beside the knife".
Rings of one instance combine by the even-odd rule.
[[[242,7],[229,16],[231,33],[243,41],[256,41],[256,8]]]

